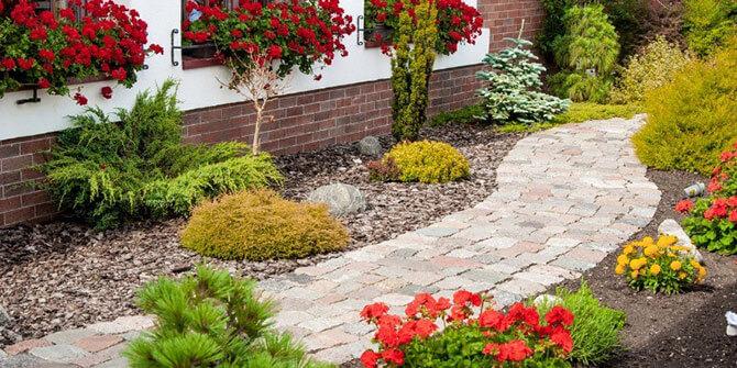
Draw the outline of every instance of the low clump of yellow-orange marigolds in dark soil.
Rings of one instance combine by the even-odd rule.
[[[615,272],[625,275],[629,286],[636,290],[648,289],[667,294],[702,282],[706,268],[691,256],[688,247],[676,243],[678,237],[667,235],[657,241],[646,236],[631,242],[617,257]]]

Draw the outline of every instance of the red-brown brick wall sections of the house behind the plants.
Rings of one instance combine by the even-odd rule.
[[[516,36],[522,19],[525,35],[540,29],[542,10],[538,0],[480,0],[480,11],[492,30],[492,49],[505,45],[504,37]],[[435,73],[430,109],[454,110],[474,101],[479,82],[474,74],[481,66]],[[392,90],[387,80],[290,94],[275,100],[271,113],[276,121],[263,127],[266,150],[288,154],[318,149],[361,140],[366,135],[388,134]],[[184,118],[188,143],[244,141],[253,136],[253,112],[248,103],[188,111]],[[54,134],[0,142],[0,226],[28,221],[45,221],[54,215],[46,193],[31,183],[40,179],[32,169],[43,160]]]

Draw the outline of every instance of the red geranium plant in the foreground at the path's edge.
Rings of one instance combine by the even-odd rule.
[[[419,293],[405,316],[384,303],[366,305],[361,316],[376,326],[378,349],[361,356],[374,367],[570,367],[573,314],[558,305],[542,319],[534,306],[493,308],[484,294],[465,290],[447,298]],[[477,311],[477,314],[475,313]]]

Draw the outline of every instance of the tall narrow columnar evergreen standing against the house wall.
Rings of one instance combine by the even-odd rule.
[[[397,141],[417,140],[427,120],[428,89],[438,40],[438,9],[435,3],[422,0],[410,5],[409,0],[405,0],[405,9],[411,8],[417,14],[417,23],[413,24],[406,10],[402,12],[396,30],[399,35],[392,57],[392,134]]]

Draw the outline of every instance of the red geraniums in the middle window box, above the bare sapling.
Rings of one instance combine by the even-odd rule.
[[[338,0],[288,0],[267,5],[241,0],[233,10],[189,1],[186,11],[185,42],[213,43],[217,57],[237,69],[271,63],[279,77],[294,67],[311,75],[316,63],[330,65],[336,55],[346,56],[342,40],[355,30]]]

